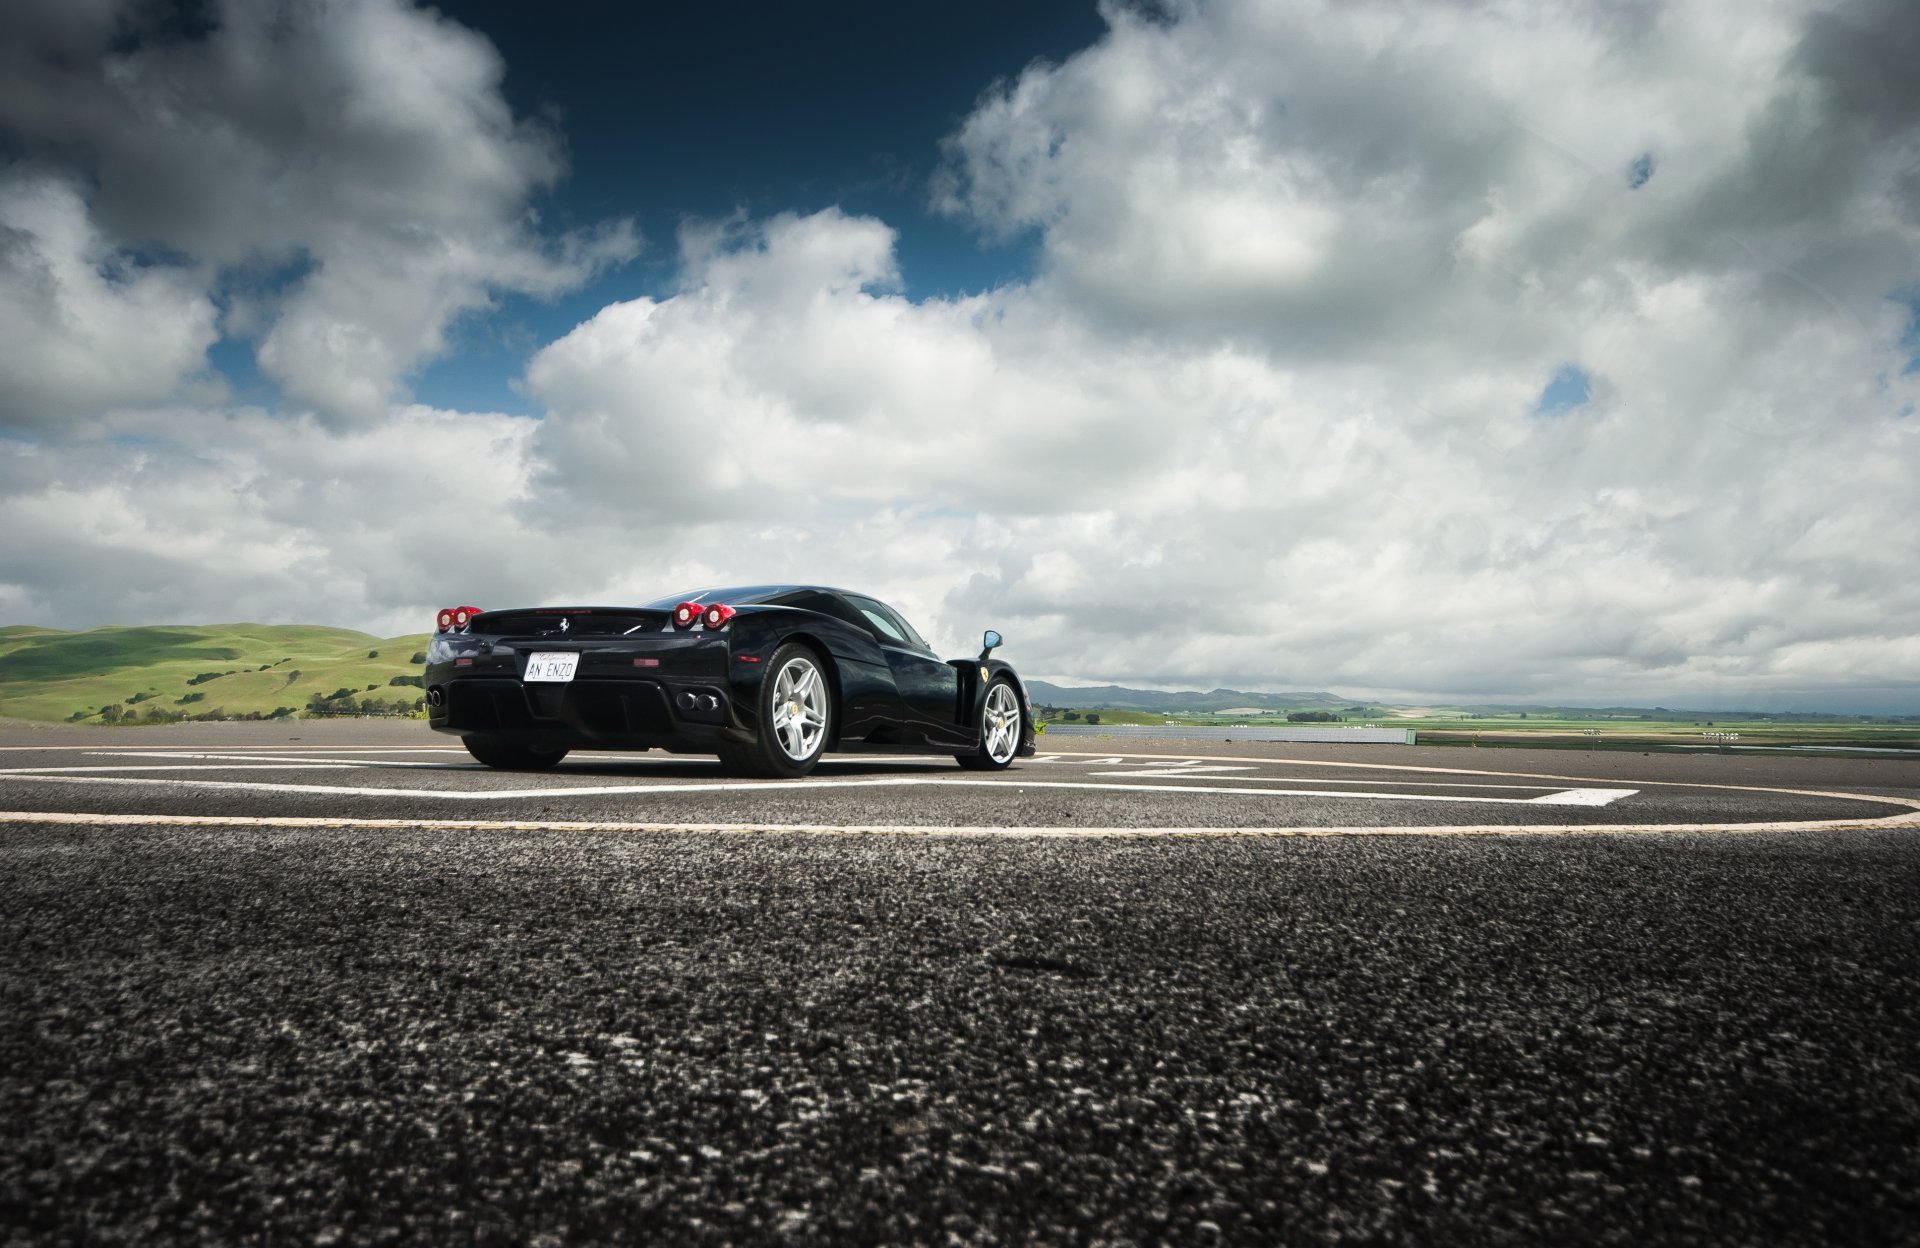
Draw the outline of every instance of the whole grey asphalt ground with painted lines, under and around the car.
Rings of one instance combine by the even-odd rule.
[[[0,1242],[1920,1242],[1912,762],[1073,745],[0,730]]]

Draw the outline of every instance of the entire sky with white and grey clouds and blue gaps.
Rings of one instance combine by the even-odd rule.
[[[1908,0],[668,8],[0,8],[0,622],[1920,710]]]

